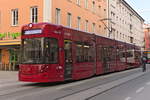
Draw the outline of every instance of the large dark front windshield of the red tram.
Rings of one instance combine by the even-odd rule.
[[[23,39],[22,41],[22,63],[43,63],[44,38]]]

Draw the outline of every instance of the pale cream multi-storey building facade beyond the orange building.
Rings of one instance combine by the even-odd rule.
[[[144,19],[125,0],[109,0],[108,8],[111,32],[107,36],[143,47]]]

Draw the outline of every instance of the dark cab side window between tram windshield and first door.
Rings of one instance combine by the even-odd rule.
[[[45,63],[58,63],[58,40],[47,38],[45,41]]]

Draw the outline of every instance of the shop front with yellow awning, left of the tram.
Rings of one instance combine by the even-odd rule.
[[[7,36],[7,35],[6,35]],[[18,70],[20,55],[20,36],[1,38],[0,40],[0,70]]]

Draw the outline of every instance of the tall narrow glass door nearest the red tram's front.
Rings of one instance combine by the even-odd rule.
[[[70,40],[64,41],[65,53],[65,80],[72,78],[72,42]]]

